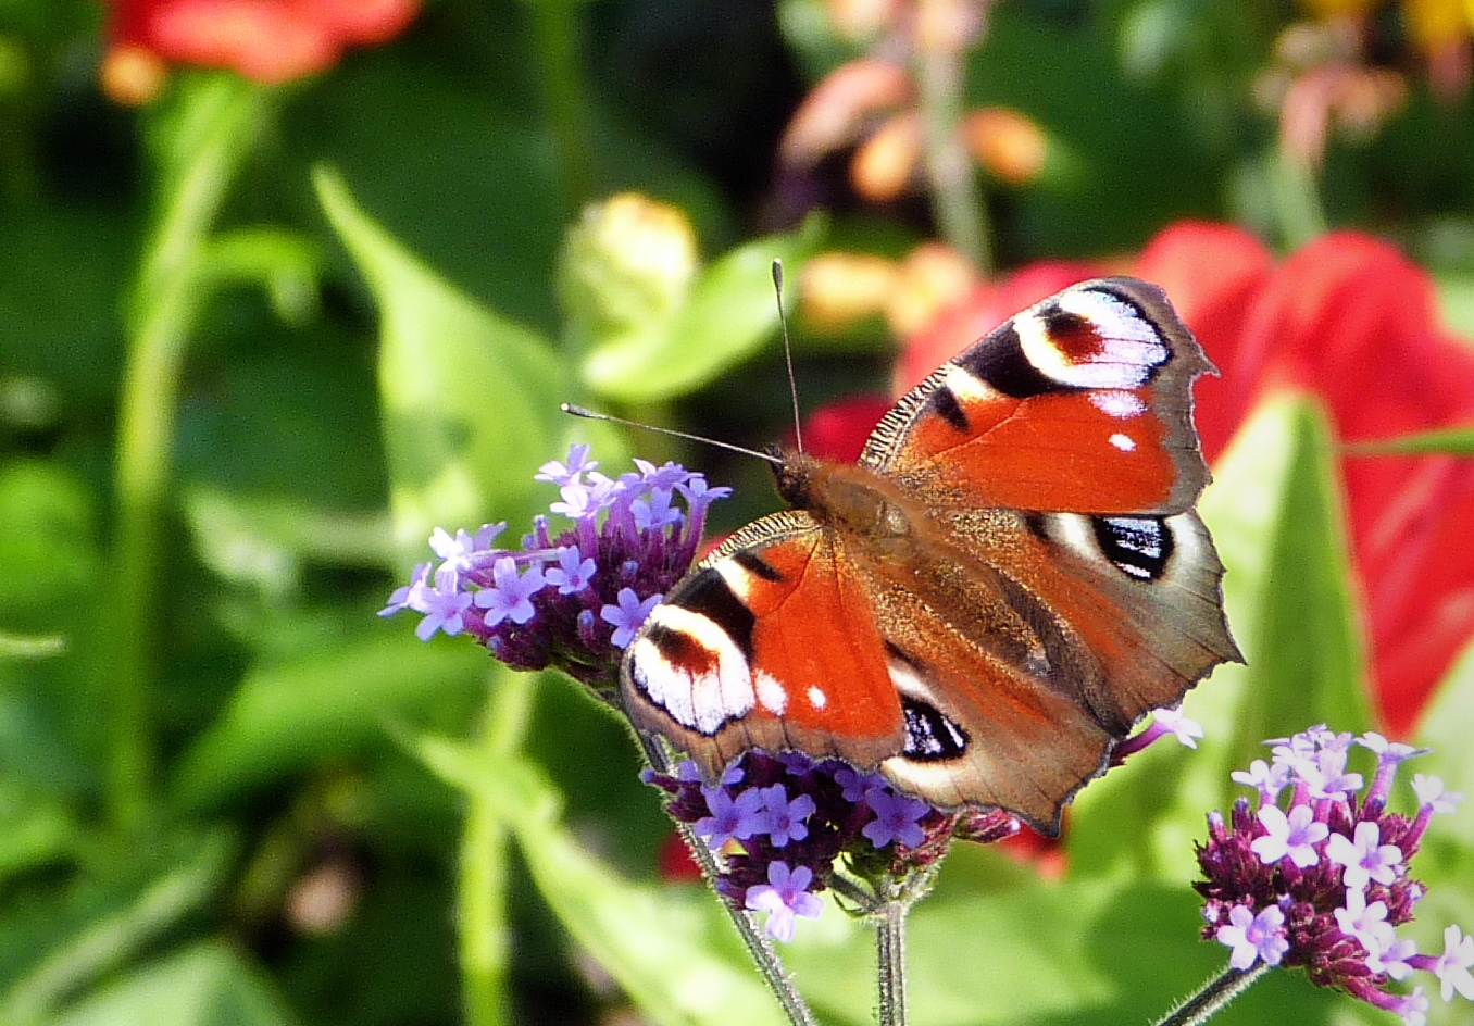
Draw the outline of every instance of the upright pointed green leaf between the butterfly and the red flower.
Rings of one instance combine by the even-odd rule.
[[[1335,479],[1319,408],[1265,402],[1215,467],[1198,509],[1226,566],[1223,604],[1247,665],[1219,666],[1188,693],[1195,752],[1153,750],[1086,787],[1069,836],[1072,865],[1170,879],[1195,874],[1203,815],[1240,793],[1229,781],[1269,737],[1316,722],[1361,733],[1371,715]]]

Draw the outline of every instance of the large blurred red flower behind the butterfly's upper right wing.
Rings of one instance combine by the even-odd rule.
[[[1024,307],[1117,270],[1162,285],[1222,373],[1197,385],[1210,461],[1278,389],[1318,397],[1343,442],[1474,423],[1474,349],[1439,324],[1428,276],[1393,246],[1338,231],[1275,265],[1248,233],[1204,223],[1166,228],[1125,268],[1045,262],[979,286],[907,341],[896,391]],[[820,436],[868,430],[873,408],[858,407],[848,433],[827,423]],[[822,417],[833,413],[815,414]],[[1349,457],[1341,476],[1374,697],[1384,728],[1406,736],[1474,637],[1474,463]]]

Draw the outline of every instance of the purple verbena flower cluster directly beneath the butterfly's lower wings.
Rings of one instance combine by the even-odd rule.
[[[718,893],[766,912],[778,940],[793,939],[796,917],[820,914],[827,887],[864,905],[881,879],[926,874],[954,837],[988,843],[1020,830],[1007,812],[946,812],[898,793],[879,772],[799,752],[747,752],[715,784],[690,761],[674,774],[647,770],[646,781],[721,856]]]

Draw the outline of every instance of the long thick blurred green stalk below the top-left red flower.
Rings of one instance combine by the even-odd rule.
[[[267,115],[267,94],[233,77],[180,96],[161,170],[159,214],[133,292],[118,401],[113,680],[108,711],[108,809],[133,831],[153,778],[152,694],[158,653],[162,522],[174,456],[184,349],[203,301],[206,237]],[[171,165],[170,165],[171,164]]]

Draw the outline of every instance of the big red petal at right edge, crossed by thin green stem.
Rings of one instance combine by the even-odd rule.
[[[1260,391],[1318,394],[1343,441],[1474,422],[1474,351],[1437,327],[1428,276],[1356,233],[1279,268],[1246,314],[1238,367],[1260,369]],[[1377,705],[1406,734],[1474,632],[1474,466],[1358,457],[1343,478]]]

